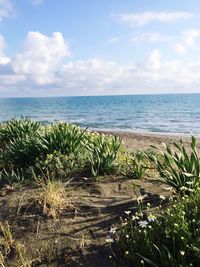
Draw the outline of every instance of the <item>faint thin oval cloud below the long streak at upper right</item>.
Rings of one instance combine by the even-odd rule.
[[[172,39],[171,36],[163,35],[160,32],[149,32],[149,33],[142,33],[136,35],[131,38],[131,42],[136,45],[140,45],[141,43],[166,43]]]

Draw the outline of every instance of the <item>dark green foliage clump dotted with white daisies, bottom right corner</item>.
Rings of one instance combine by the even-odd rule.
[[[128,216],[108,239],[117,266],[197,267],[200,263],[200,190],[166,210]],[[111,229],[111,233],[113,233]]]

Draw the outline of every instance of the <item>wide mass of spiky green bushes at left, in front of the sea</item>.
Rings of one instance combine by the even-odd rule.
[[[12,165],[13,169],[19,169],[34,166],[36,159],[43,161],[45,166],[47,155],[55,153],[59,154],[62,162],[68,157],[70,160],[67,161],[73,165],[77,162],[76,157],[80,158],[79,155],[86,151],[87,139],[85,131],[72,124],[57,123],[43,127],[29,119],[13,119],[1,126],[0,140],[3,144],[1,168],[7,169]]]

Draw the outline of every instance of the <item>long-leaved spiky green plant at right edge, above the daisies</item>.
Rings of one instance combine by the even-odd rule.
[[[186,150],[182,140],[174,143],[175,150],[164,144],[166,152],[158,156],[149,156],[155,163],[164,183],[180,194],[190,194],[200,184],[200,160],[196,139],[192,136],[191,151]]]

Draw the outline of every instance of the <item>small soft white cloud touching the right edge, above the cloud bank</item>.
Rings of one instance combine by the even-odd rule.
[[[200,36],[199,30],[185,31],[182,34],[181,41],[175,45],[175,50],[179,54],[186,54],[189,49],[196,47],[196,39]]]

